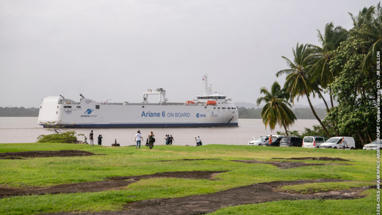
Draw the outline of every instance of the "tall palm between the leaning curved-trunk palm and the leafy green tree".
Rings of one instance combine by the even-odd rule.
[[[329,62],[333,56],[334,50],[340,46],[341,42],[349,38],[349,32],[341,26],[334,27],[333,23],[327,23],[325,25],[324,34],[317,29],[318,40],[321,43],[321,47],[317,45],[310,45],[314,49],[314,53],[311,57],[314,60],[314,65],[312,66],[310,73],[312,78],[319,79],[317,82],[322,88],[327,89],[328,85],[333,82],[333,79],[337,74],[335,71],[330,70]],[[320,91],[316,91],[319,97],[322,97]],[[333,97],[332,91],[329,86],[330,103],[333,107]],[[323,97],[322,97],[323,98]],[[329,107],[324,100],[327,111],[329,112]]]

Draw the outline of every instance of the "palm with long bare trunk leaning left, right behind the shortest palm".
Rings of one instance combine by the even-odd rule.
[[[316,111],[313,108],[313,105],[310,100],[310,96],[315,96],[314,91],[315,87],[312,86],[311,77],[309,71],[312,67],[310,55],[314,52],[313,48],[309,48],[309,45],[299,45],[297,43],[296,49],[293,50],[293,61],[289,60],[285,56],[282,58],[285,59],[286,64],[290,69],[280,70],[276,73],[276,76],[286,74],[286,80],[284,88],[286,92],[290,94],[290,101],[294,103],[294,99],[297,97],[297,100],[300,96],[306,95],[308,99],[309,106],[312,109],[313,115],[316,117],[317,121],[321,124],[325,133],[330,136],[325,125],[322,123],[320,118],[317,116]]]

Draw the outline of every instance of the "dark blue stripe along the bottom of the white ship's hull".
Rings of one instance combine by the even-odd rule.
[[[45,127],[44,124],[40,124]],[[173,123],[173,124],[60,124],[64,128],[203,128],[236,127],[238,123]]]

